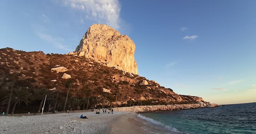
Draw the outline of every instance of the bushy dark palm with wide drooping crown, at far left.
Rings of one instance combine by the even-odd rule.
[[[30,98],[31,93],[28,92],[28,90],[22,88],[22,87],[18,87],[17,89],[13,90],[13,95],[11,98],[11,104],[13,104],[13,108],[12,108],[12,113],[14,113],[16,106],[19,106],[20,103],[24,102],[26,105],[28,105],[28,103],[30,101],[28,101],[28,98]],[[10,93],[11,94],[11,93]],[[5,100],[3,100],[2,104],[7,104],[9,103],[9,98],[6,96],[4,97]]]

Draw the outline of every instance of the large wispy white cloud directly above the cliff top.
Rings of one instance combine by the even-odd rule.
[[[118,0],[61,0],[76,10],[85,13],[84,17],[97,23],[105,23],[113,28],[120,27],[120,10]]]

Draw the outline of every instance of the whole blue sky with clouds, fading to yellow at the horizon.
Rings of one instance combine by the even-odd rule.
[[[0,48],[68,53],[94,23],[128,35],[139,75],[218,104],[256,102],[255,0],[2,0]]]

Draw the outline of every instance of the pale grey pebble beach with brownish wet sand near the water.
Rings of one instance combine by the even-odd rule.
[[[88,119],[79,119],[83,114]],[[138,134],[144,133],[133,112],[59,113],[0,116],[0,134]],[[134,125],[136,127],[134,127]]]

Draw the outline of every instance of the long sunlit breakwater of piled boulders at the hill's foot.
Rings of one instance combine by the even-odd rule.
[[[210,107],[212,106],[212,107]],[[179,105],[148,105],[148,106],[130,106],[130,107],[119,107],[114,108],[114,111],[123,111],[123,112],[135,112],[135,113],[145,113],[152,111],[171,111],[171,110],[180,110],[180,109],[196,109],[196,108],[213,108],[218,105],[209,105],[202,106],[200,104],[179,104]]]

